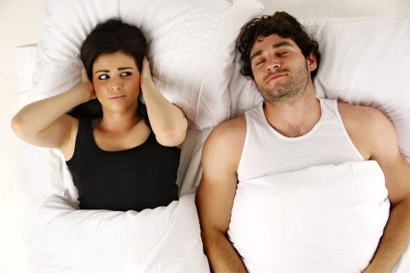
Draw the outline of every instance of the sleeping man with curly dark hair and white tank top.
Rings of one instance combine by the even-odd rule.
[[[245,62],[242,73],[253,78],[264,102],[217,125],[204,145],[196,204],[212,271],[246,272],[227,235],[237,183],[315,165],[376,160],[391,210],[364,272],[390,272],[410,241],[410,166],[399,152],[393,125],[377,109],[315,97],[317,43],[285,12],[249,22],[239,49]],[[323,125],[324,115],[332,116],[334,128]],[[287,140],[292,144],[283,150],[281,143]],[[302,140],[310,145],[303,146]]]

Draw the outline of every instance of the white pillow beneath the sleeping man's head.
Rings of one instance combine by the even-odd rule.
[[[394,123],[401,153],[410,156],[410,17],[305,19],[322,62],[317,96],[379,108]],[[235,71],[229,83],[234,116],[260,102],[250,78]]]

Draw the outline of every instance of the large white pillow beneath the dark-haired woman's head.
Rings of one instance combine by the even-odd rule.
[[[147,37],[159,90],[189,125],[214,127],[230,118],[236,38],[262,9],[258,0],[48,0],[33,93],[52,96],[77,84],[81,43],[96,24],[119,17]]]

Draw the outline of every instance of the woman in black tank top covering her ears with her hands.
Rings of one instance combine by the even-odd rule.
[[[80,209],[140,211],[178,200],[177,146],[187,121],[154,85],[146,48],[137,27],[99,24],[80,48],[83,82],[11,120],[22,140],[61,150]]]

